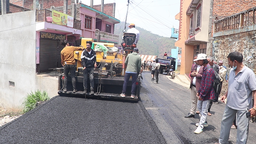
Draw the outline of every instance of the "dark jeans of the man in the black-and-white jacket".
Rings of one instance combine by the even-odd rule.
[[[91,89],[94,88],[93,67],[92,68],[85,68],[83,70],[83,87],[84,87],[85,90],[87,90],[88,73],[89,73]]]

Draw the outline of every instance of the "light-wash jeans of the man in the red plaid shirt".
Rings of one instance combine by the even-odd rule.
[[[208,107],[209,107],[210,99],[205,101],[197,101],[197,108],[201,114],[200,122],[198,127],[204,128],[203,124],[207,121]]]

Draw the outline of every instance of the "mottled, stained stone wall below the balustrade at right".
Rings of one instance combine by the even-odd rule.
[[[239,32],[240,33],[237,33]],[[213,37],[213,56],[217,60],[223,60],[223,65],[228,66],[228,54],[233,51],[242,53],[243,64],[256,74],[256,25],[244,26],[233,30],[215,33]],[[230,68],[227,68],[228,74]],[[223,82],[223,90],[226,92],[228,83]]]

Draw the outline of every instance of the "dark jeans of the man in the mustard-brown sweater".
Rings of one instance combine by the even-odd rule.
[[[72,64],[64,65],[64,87],[63,87],[63,90],[67,90],[67,83],[68,83],[67,76],[68,76],[69,72],[71,73],[73,90],[76,90],[76,79],[75,79],[76,68],[75,68],[75,65],[72,65]]]

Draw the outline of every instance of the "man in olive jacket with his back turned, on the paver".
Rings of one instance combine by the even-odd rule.
[[[132,79],[132,86],[131,86],[131,98],[134,98],[135,95],[135,87],[136,87],[136,80],[137,76],[140,73],[141,67],[141,57],[138,55],[139,49],[134,48],[133,53],[127,55],[125,59],[125,65],[127,65],[124,77],[124,85],[123,85],[123,92],[120,94],[121,97],[125,97],[125,91],[127,88],[127,82],[129,81],[130,77]]]

